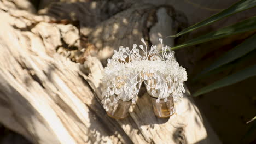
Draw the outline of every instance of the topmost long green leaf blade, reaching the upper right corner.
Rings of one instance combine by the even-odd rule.
[[[231,7],[223,10],[222,12],[220,12],[218,14],[215,14],[215,15],[209,17],[208,19],[203,20],[199,23],[196,23],[193,26],[190,26],[188,28],[183,29],[181,32],[176,34],[176,37],[178,37],[180,35],[183,35],[185,33],[188,33],[190,31],[193,31],[197,28],[209,25],[210,23],[213,23],[215,21],[223,19],[224,17],[228,17],[228,16],[236,14],[240,11],[243,11],[243,10],[246,10],[246,9],[249,9],[249,8],[253,8],[255,6],[256,6],[256,1],[255,0],[241,0],[241,1],[231,5]]]

